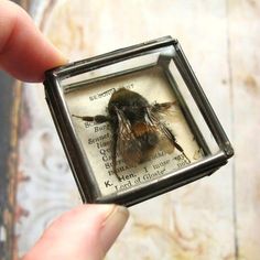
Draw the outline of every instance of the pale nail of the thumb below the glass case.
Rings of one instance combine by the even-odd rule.
[[[129,210],[123,206],[115,205],[110,214],[107,215],[100,234],[101,246],[106,253],[121,232],[129,218]]]

